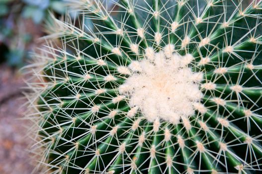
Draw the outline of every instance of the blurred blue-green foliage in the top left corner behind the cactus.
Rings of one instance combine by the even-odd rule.
[[[23,66],[29,58],[35,39],[35,29],[39,28],[38,35],[43,35],[43,21],[47,20],[49,11],[64,14],[63,0],[1,0],[0,1],[0,53],[2,61],[9,66]],[[34,23],[26,26],[31,19]],[[25,24],[27,23],[27,24]],[[2,62],[1,61],[1,62]]]

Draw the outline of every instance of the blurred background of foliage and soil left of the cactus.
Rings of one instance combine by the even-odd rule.
[[[26,151],[32,140],[27,136],[29,122],[23,119],[26,77],[20,69],[43,44],[39,38],[47,35],[50,14],[59,18],[65,13],[65,1],[0,0],[0,174],[39,174]]]

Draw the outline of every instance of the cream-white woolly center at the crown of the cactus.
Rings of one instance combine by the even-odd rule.
[[[132,75],[119,91],[129,97],[130,107],[139,109],[149,121],[177,124],[180,118],[194,114],[194,104],[203,95],[199,90],[203,74],[191,71],[188,58],[193,59],[159,52],[150,59],[133,61],[129,65]]]

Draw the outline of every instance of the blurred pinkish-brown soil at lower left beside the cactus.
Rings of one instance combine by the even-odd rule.
[[[29,121],[23,120],[25,107],[22,75],[0,66],[0,174],[36,174],[26,149]]]

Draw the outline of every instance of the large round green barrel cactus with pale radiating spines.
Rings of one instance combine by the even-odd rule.
[[[43,173],[261,173],[261,1],[68,1],[30,66]]]

